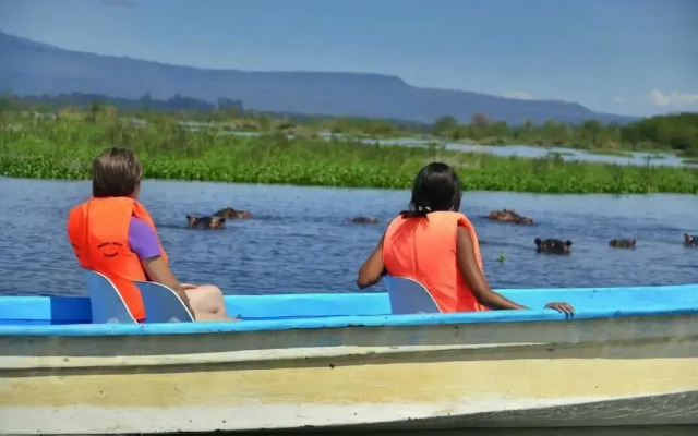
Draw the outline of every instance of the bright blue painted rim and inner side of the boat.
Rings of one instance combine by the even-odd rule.
[[[630,287],[588,287],[588,288],[515,288],[502,289],[506,296],[521,299],[526,294],[544,294],[564,292],[569,298],[581,296],[593,299],[606,292],[651,291],[654,293],[652,304],[628,306],[627,302],[618,301],[622,308],[606,306],[586,306],[578,310],[573,317],[552,308],[528,308],[516,311],[485,311],[460,312],[441,314],[410,314],[393,315],[389,312],[387,292],[337,292],[337,293],[278,293],[278,294],[228,294],[227,304],[230,308],[238,304],[249,305],[251,312],[238,316],[241,322],[205,322],[205,323],[158,323],[158,324],[92,324],[88,317],[71,312],[88,311],[89,298],[86,295],[7,295],[0,296],[0,337],[95,337],[95,336],[142,336],[142,335],[201,335],[244,331],[275,331],[293,329],[324,329],[348,327],[401,327],[401,326],[433,326],[433,325],[468,325],[468,324],[498,324],[498,323],[537,323],[537,322],[574,322],[579,319],[598,318],[629,318],[629,317],[674,317],[698,314],[694,293],[698,291],[698,283],[669,286],[630,286]],[[662,299],[662,294],[679,296],[679,299]],[[681,295],[690,295],[688,300]],[[552,295],[551,295],[552,296]],[[558,298],[558,296],[555,296]],[[369,299],[363,301],[363,299]],[[361,304],[357,304],[361,301]],[[277,306],[289,304],[288,315],[269,316],[266,310],[258,311],[267,302]],[[325,315],[322,312],[308,310],[306,305],[320,303],[321,310],[337,311]],[[58,304],[57,311],[52,304]],[[370,303],[370,307],[365,304]],[[262,304],[262,306],[260,306]],[[606,303],[607,304],[607,303]],[[298,306],[304,307],[300,313]],[[614,304],[615,305],[615,304]],[[67,306],[71,306],[68,307]],[[82,306],[75,308],[76,306]],[[256,306],[256,307],[255,307]],[[296,307],[293,307],[296,306]],[[20,311],[13,307],[23,308]],[[267,307],[268,308],[268,307]],[[316,307],[317,308],[317,307]],[[350,311],[356,310],[356,313]],[[32,318],[36,312],[39,317]],[[231,311],[231,313],[234,310]],[[244,312],[244,311],[243,311]],[[315,314],[312,314],[315,312]],[[327,313],[327,312],[326,312]],[[82,316],[82,317],[81,317]],[[87,315],[89,316],[89,315]],[[33,320],[48,322],[34,324]]]

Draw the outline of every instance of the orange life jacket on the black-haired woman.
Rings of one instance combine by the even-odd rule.
[[[478,235],[468,218],[456,211],[433,211],[425,218],[395,218],[383,241],[385,269],[390,276],[422,283],[441,312],[488,311],[474,298],[458,267],[458,226],[468,229],[482,271]]]

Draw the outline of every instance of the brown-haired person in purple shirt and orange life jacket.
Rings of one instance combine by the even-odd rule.
[[[83,268],[109,277],[133,317],[146,314],[134,280],[151,280],[172,289],[196,320],[234,320],[226,314],[220,289],[180,283],[168,265],[148,211],[136,198],[143,167],[133,152],[111,148],[93,162],[92,198],[68,217],[68,238]]]

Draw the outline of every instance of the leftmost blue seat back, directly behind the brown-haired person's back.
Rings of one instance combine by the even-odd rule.
[[[93,324],[137,324],[117,287],[101,272],[83,268]]]

